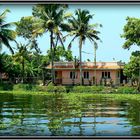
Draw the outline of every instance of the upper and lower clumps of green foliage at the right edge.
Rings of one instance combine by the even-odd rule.
[[[126,40],[125,43],[123,44],[123,48],[130,49],[130,47],[133,45],[137,45],[138,47],[140,47],[140,38],[139,38],[139,36],[140,36],[140,19],[127,17],[126,21],[127,21],[127,23],[123,29],[124,33],[121,35],[121,37],[125,38],[125,40]],[[139,52],[137,52],[137,53],[139,54]],[[137,54],[137,53],[135,53],[135,54]],[[135,55],[133,55],[133,56],[135,56]],[[138,65],[140,67],[140,64],[138,63],[138,62],[140,62],[139,61],[140,58],[139,58],[139,55],[137,55],[137,57],[133,57],[133,56],[130,58],[130,63],[125,68],[125,73],[127,75],[129,75],[129,77],[138,80],[138,90],[140,91],[140,73],[139,73],[139,78],[136,78],[138,71],[140,71],[140,69],[138,68]]]

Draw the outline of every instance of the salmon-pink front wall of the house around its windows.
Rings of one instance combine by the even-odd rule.
[[[100,84],[100,80],[102,77],[102,72],[107,71],[110,72],[111,79],[113,80],[114,84],[117,84],[117,70],[98,70],[96,71],[96,77],[97,77],[97,84]],[[80,83],[80,72],[77,72],[77,78],[74,79],[74,83],[78,84]],[[83,70],[84,72],[84,70]],[[89,80],[93,80],[94,71],[89,71]],[[89,84],[88,79],[84,79],[84,84]],[[70,79],[70,70],[64,70],[62,71],[62,84],[72,84],[72,79]]]

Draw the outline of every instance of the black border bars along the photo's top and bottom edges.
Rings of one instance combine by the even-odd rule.
[[[0,0],[0,4],[100,4],[100,5],[140,5],[140,0]],[[0,136],[0,139],[140,139],[140,136]]]

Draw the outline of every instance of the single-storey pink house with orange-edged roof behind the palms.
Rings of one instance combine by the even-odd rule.
[[[83,83],[85,85],[96,84],[120,84],[123,76],[122,62],[82,62]],[[47,67],[51,69],[51,65]],[[79,65],[74,62],[55,62],[55,82],[57,84],[71,85],[80,83]]]

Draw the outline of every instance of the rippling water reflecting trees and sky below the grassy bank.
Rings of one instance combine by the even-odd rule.
[[[0,94],[0,136],[140,136],[140,105],[99,97]]]

